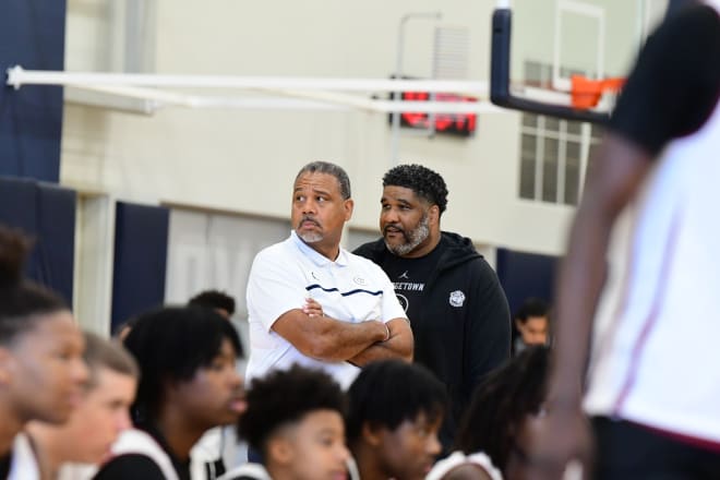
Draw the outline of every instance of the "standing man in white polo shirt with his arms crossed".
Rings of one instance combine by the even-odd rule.
[[[313,161],[296,177],[290,238],[261,251],[248,280],[248,382],[299,363],[347,388],[372,360],[411,360],[412,332],[387,275],[340,248],[352,207],[337,165]]]

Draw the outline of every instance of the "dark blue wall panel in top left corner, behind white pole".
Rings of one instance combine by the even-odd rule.
[[[5,86],[5,70],[64,70],[65,0],[4,0],[0,11],[0,175],[58,182],[62,88]]]

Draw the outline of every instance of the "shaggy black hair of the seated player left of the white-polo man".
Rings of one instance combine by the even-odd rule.
[[[168,382],[190,381],[208,367],[228,339],[237,356],[238,333],[219,313],[201,307],[165,307],[137,317],[124,340],[140,365],[133,420],[144,422],[167,400]]]

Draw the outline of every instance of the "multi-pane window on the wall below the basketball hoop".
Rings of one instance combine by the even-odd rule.
[[[584,73],[564,69],[563,75]],[[552,67],[528,61],[526,82],[550,87]],[[576,205],[583,191],[588,158],[600,143],[602,129],[590,123],[523,113],[519,196],[538,202]]]

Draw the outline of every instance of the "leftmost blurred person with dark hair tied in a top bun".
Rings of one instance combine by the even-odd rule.
[[[60,424],[87,381],[85,341],[65,302],[23,278],[29,242],[0,226],[0,478],[39,475],[31,420]],[[16,437],[17,435],[17,437]]]

